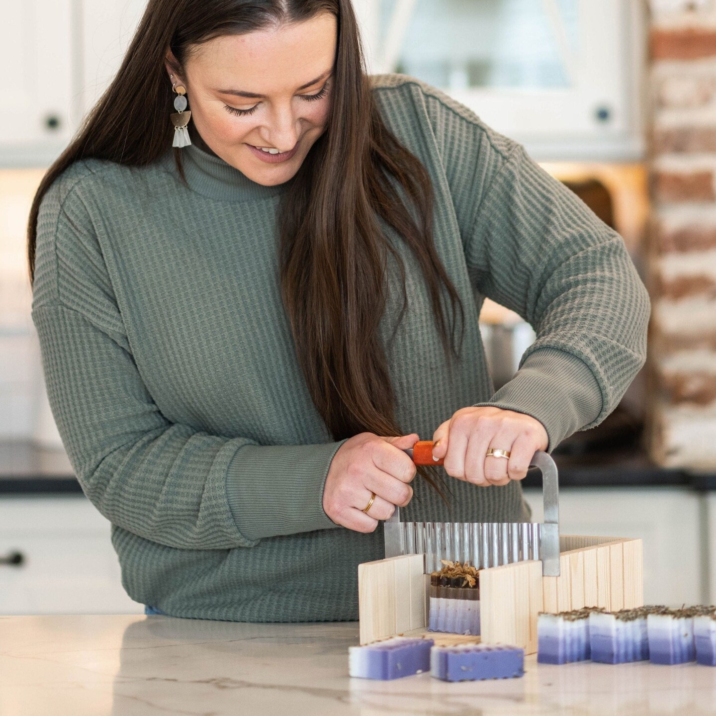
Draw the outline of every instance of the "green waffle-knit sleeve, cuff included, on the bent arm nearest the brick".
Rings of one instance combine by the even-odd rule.
[[[483,151],[493,152],[490,144]],[[516,142],[495,165],[465,241],[478,291],[536,332],[488,402],[539,420],[548,450],[614,410],[646,359],[649,296],[624,241]]]

